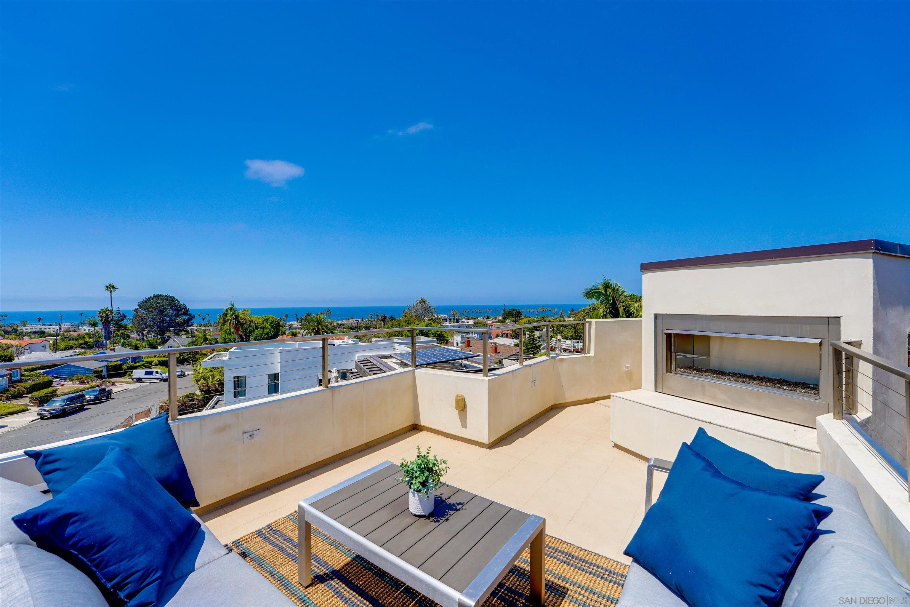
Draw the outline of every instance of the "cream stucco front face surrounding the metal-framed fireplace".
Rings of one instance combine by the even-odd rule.
[[[841,317],[844,339],[873,339],[873,257],[784,259],[642,275],[642,388],[654,389],[654,314]]]

